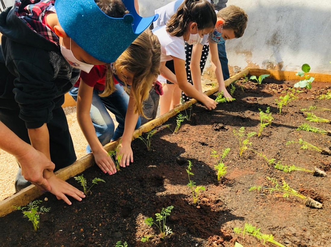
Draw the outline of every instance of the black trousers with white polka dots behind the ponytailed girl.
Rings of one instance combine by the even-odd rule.
[[[185,42],[185,53],[186,53],[185,68],[187,74],[187,81],[193,85],[191,69],[190,69],[192,47],[193,45],[189,45]],[[202,48],[201,59],[200,59],[201,74],[205,68],[208,54],[209,54],[209,45],[204,45],[204,47]],[[182,92],[182,98],[181,98],[182,103],[189,101],[190,99],[191,97],[187,96],[184,92]]]

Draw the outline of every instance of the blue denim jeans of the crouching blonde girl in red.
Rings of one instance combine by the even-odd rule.
[[[108,97],[100,97],[99,93],[101,93],[101,91],[93,90],[90,116],[97,137],[103,146],[113,140],[117,140],[124,132],[124,121],[129,103],[129,95],[119,84],[116,84],[115,88],[116,90]],[[77,101],[78,88],[72,88],[69,94]],[[107,109],[115,115],[116,121],[118,122],[116,129],[114,121],[107,112]],[[139,128],[139,126],[140,118],[136,124],[136,129]],[[90,145],[87,145],[86,152],[91,153]]]

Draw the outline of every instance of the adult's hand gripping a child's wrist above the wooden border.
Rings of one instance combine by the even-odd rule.
[[[16,156],[17,162],[21,166],[24,179],[30,181],[40,190],[51,191],[51,186],[47,179],[43,177],[43,172],[45,169],[53,171],[55,164],[32,146],[29,146],[26,151],[26,154]]]

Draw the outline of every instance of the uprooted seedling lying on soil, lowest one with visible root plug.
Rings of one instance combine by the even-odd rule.
[[[267,177],[267,179],[274,185],[274,187],[269,188],[269,187],[262,187],[262,186],[253,186],[249,189],[249,191],[261,191],[261,190],[268,190],[270,192],[270,194],[272,192],[281,192],[283,193],[283,197],[287,198],[290,196],[295,196],[295,197],[299,197],[301,199],[305,200],[305,205],[307,207],[312,207],[312,208],[322,208],[322,203],[315,201],[313,199],[311,199],[310,197],[307,197],[303,194],[301,194],[300,192],[297,192],[296,190],[292,189],[288,183],[286,183],[283,180],[283,185],[278,184],[278,181],[275,178],[269,178]]]

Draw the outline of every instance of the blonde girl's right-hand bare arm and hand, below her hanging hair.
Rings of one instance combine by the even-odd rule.
[[[119,144],[118,154],[122,157],[120,166],[125,167],[133,162],[133,152],[131,149],[132,135],[134,128],[137,124],[139,114],[134,112],[134,106],[136,101],[132,95],[132,90],[130,91],[129,104],[127,107],[125,122],[124,122],[124,132],[122,135],[122,142]]]

